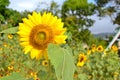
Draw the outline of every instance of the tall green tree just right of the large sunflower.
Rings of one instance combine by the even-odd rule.
[[[87,0],[66,0],[62,5],[62,18],[68,32],[72,34],[74,45],[80,41],[88,43],[91,33],[88,30],[94,23],[88,16],[94,14],[94,4]],[[88,43],[89,44],[89,43]]]

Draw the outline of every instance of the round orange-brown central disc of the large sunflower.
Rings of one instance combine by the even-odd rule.
[[[44,24],[33,27],[30,32],[29,42],[36,49],[47,48],[47,45],[53,42],[52,29]]]

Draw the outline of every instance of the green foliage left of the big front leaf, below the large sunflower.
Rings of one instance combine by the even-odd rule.
[[[30,56],[24,54],[23,48],[19,45],[18,36],[12,34],[13,37],[9,38],[8,35],[10,34],[0,35],[0,80],[1,77],[9,75],[11,77],[13,72],[18,72],[25,77],[25,79],[19,77],[19,80],[33,80],[35,77],[41,80],[56,80],[55,70],[50,63],[45,66],[42,63],[44,59],[40,61],[31,59]],[[12,67],[12,69],[8,67]],[[15,73],[15,75],[17,74]]]

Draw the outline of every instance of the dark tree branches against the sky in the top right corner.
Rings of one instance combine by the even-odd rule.
[[[113,24],[120,25],[120,0],[95,0],[98,16],[108,15]]]

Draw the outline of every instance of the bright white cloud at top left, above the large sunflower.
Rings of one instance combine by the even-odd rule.
[[[48,7],[52,0],[10,0],[9,8],[17,11],[29,10],[33,11],[37,8],[40,2],[45,2],[47,5],[41,6],[42,8]],[[62,4],[64,0],[54,0],[57,4]]]

